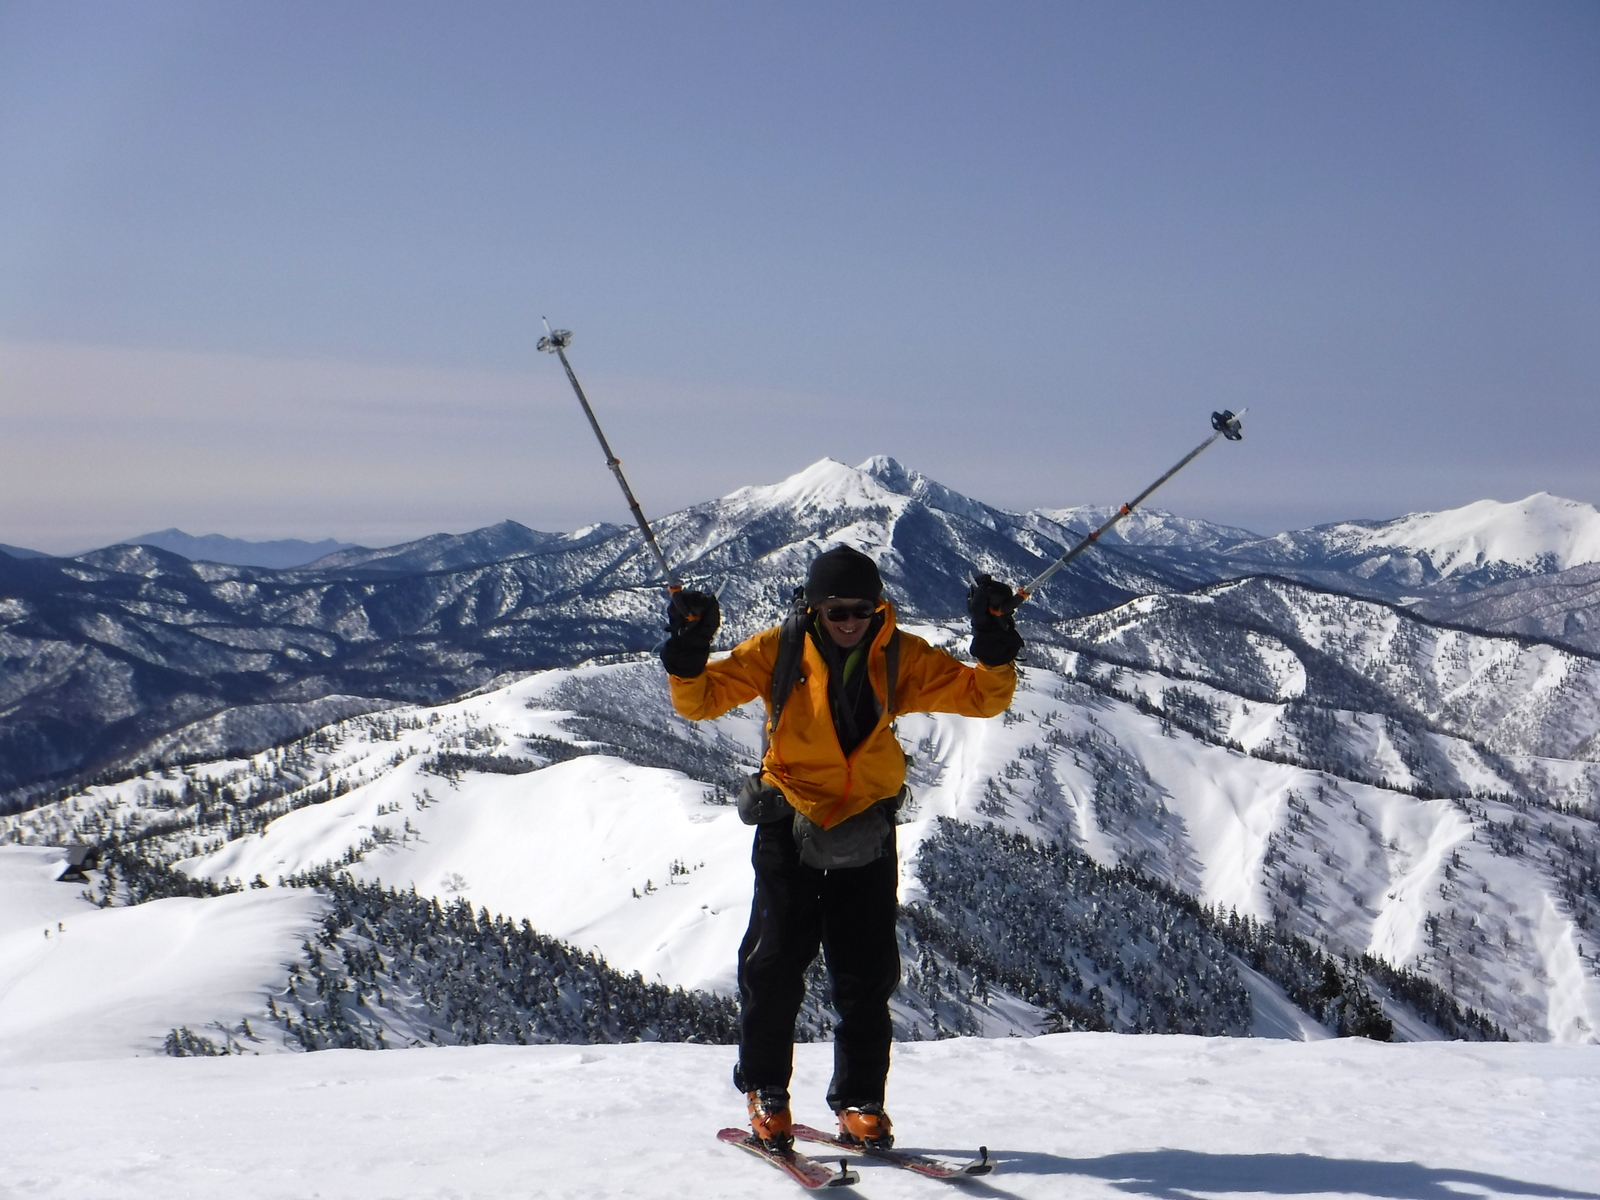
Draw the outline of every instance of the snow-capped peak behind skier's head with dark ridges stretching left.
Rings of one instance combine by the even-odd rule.
[[[962,611],[973,571],[1021,579],[1064,530],[978,504],[891,459],[822,461],[782,483],[672,514],[683,578],[718,587],[730,629],[784,611],[816,547],[883,552],[907,613]],[[1034,619],[1210,576],[1083,557]],[[0,808],[144,762],[256,750],[354,712],[437,701],[507,672],[640,651],[661,592],[637,530],[546,534],[506,522],[290,571],[152,547],[0,558]]]

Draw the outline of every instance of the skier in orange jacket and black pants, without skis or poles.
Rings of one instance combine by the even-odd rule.
[[[661,662],[672,706],[690,720],[760,698],[762,770],[739,795],[755,826],[755,898],[739,947],[741,1032],[734,1086],[750,1128],[779,1152],[794,1144],[789,1077],[805,971],[821,946],[838,1026],[827,1102],[840,1139],[888,1149],[888,1002],[899,984],[894,814],[906,755],[890,726],[902,712],[995,717],[1016,688],[1019,597],[978,576],[966,597],[976,667],[894,629],[877,563],[848,546],[811,563],[803,606],[707,662],[722,622],[714,595],[675,594]],[[893,674],[893,678],[891,678]]]

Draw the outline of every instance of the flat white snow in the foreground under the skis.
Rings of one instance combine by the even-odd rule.
[[[901,1045],[899,1142],[995,1174],[947,1195],[1600,1197],[1600,1048],[1062,1034]],[[726,1046],[112,1059],[0,1075],[0,1195],[794,1197],[714,1139]],[[821,1125],[829,1048],[798,1048]],[[942,1184],[864,1162],[842,1195]]]

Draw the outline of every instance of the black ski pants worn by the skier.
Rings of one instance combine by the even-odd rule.
[[[890,1074],[890,997],[899,986],[894,917],[899,859],[818,870],[800,862],[789,821],[755,827],[755,901],[739,946],[741,1091],[787,1088],[805,971],[818,947],[827,966],[834,1027],[835,1109],[882,1104]]]

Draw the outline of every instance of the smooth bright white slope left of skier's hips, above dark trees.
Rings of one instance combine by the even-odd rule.
[[[493,710],[474,715],[494,720]],[[501,717],[498,728],[517,723]],[[706,802],[704,784],[608,755],[531,774],[467,773],[456,784],[414,768],[290,813],[195,869],[277,880],[379,830],[394,840],[352,864],[357,878],[464,896],[622,970],[733,994],[750,906],[738,866],[750,838],[730,806]]]

